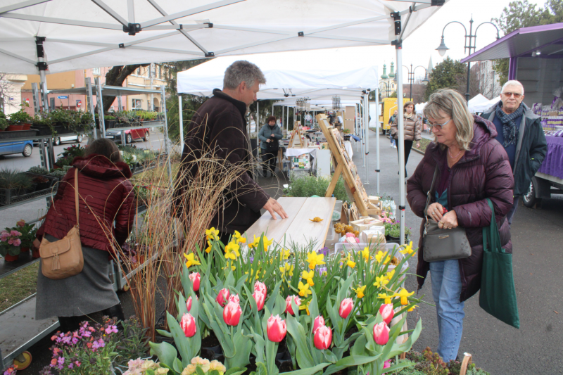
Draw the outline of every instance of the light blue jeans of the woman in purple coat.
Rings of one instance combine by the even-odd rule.
[[[463,331],[462,279],[457,260],[430,263],[432,297],[438,313],[438,354],[444,362],[455,360]]]

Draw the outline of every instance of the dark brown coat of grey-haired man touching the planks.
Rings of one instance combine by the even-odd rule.
[[[188,178],[196,177],[198,166],[190,163],[201,158],[202,151],[214,150],[215,157],[224,158],[232,165],[247,164],[251,161],[248,136],[246,134],[246,104],[238,101],[220,89],[213,90],[213,96],[205,101],[191,119],[184,138],[184,151],[176,196],[179,197],[189,183]],[[225,233],[243,232],[260,218],[260,209],[270,196],[254,182],[250,172],[241,174],[236,182],[224,193],[224,204],[217,208],[211,226]],[[181,199],[176,201],[179,213],[186,213]]]

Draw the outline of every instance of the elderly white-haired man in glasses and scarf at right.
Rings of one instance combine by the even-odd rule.
[[[540,117],[523,102],[524,87],[518,81],[508,81],[500,91],[500,101],[483,113],[483,118],[497,128],[497,141],[505,147],[514,174],[514,204],[507,214],[508,224],[518,207],[534,174],[540,168],[548,145],[540,124]]]

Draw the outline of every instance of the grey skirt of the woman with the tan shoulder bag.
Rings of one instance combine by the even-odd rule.
[[[45,238],[58,241],[49,234]],[[82,254],[82,272],[62,280],[44,277],[39,264],[35,319],[78,317],[120,303],[108,275],[108,252],[83,245]]]

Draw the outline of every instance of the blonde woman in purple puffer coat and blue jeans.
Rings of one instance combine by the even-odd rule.
[[[428,207],[429,220],[438,222],[440,228],[465,228],[472,247],[469,258],[424,262],[423,220],[418,283],[421,288],[426,274],[431,272],[440,335],[438,354],[448,362],[455,360],[460,347],[464,300],[481,286],[482,230],[491,224],[491,209],[486,198],[491,199],[495,208],[502,248],[512,253],[510,228],[505,216],[512,208],[514,179],[505,149],[495,140],[495,125],[471,115],[457,91],[444,89],[432,94],[424,107],[424,115],[429,120],[435,143],[426,148],[415,174],[407,181],[407,200],[412,212],[424,218],[426,193],[437,165],[438,174]]]

